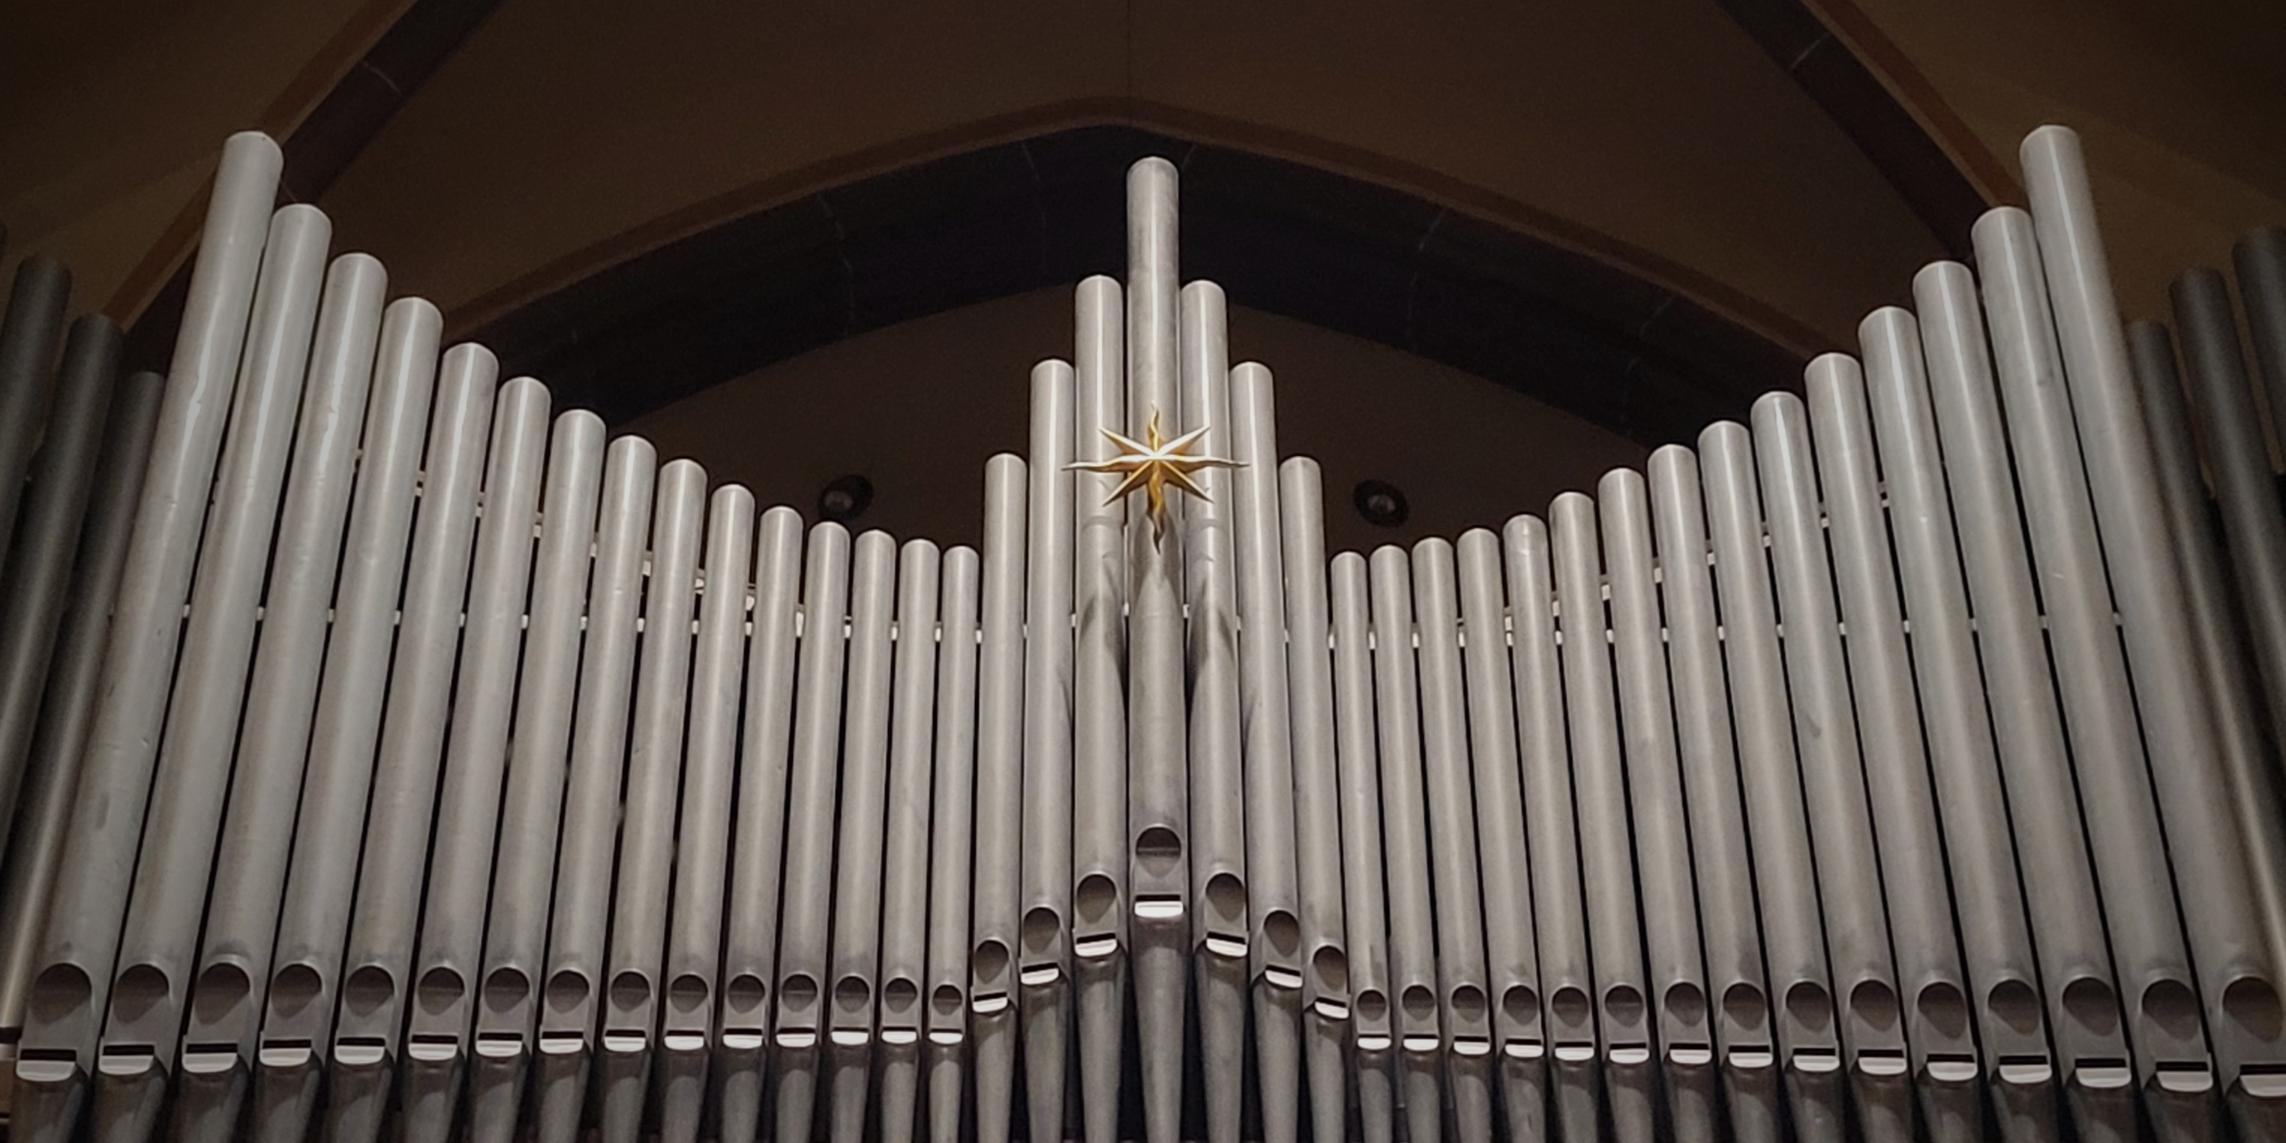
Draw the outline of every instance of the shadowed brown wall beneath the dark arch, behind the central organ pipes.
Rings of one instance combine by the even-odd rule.
[[[1326,537],[1337,549],[1497,528],[1644,457],[1612,432],[1401,350],[1244,306],[1230,325],[1230,359],[1278,375],[1280,450],[1326,469]],[[695,457],[716,480],[812,519],[821,485],[864,473],[876,501],[862,528],[974,544],[985,459],[1024,453],[1026,373],[1040,357],[1070,357],[1070,290],[1038,290],[828,345],[629,430],[661,457]],[[1356,514],[1351,487],[1367,478],[1406,491],[1406,528]]]

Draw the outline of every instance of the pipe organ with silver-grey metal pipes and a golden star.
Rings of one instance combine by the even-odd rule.
[[[0,325],[11,1138],[2286,1138],[2279,482],[2069,130],[1799,395],[1369,555],[1164,160],[981,549],[551,409],[279,165],[165,377]]]

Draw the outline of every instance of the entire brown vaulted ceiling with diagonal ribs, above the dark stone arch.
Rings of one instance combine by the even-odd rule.
[[[2286,217],[2281,48],[2263,0],[85,0],[0,37],[0,224],[135,318],[215,146],[261,126],[343,245],[469,331],[873,176],[1118,128],[1429,203],[1804,354],[1957,249],[2039,121],[2087,135],[2151,311]]]

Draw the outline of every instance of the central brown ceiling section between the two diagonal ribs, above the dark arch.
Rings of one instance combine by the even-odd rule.
[[[507,0],[325,206],[402,288],[475,320],[633,254],[629,233],[1102,119],[1639,254],[1648,277],[1776,315],[1740,313],[1795,343],[1847,336],[1936,254],[1701,0],[1344,2],[1305,23],[1196,0]]]

